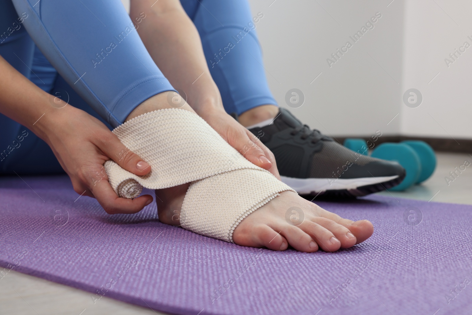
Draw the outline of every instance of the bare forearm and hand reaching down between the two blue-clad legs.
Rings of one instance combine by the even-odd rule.
[[[194,111],[246,159],[280,179],[270,150],[224,111],[200,35],[180,1],[131,1],[130,16],[140,21],[137,31],[156,65],[174,87],[185,91]]]

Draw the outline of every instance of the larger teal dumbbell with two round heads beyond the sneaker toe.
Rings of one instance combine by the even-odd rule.
[[[372,157],[396,161],[405,169],[403,181],[390,188],[405,190],[408,187],[428,179],[436,168],[436,156],[433,149],[424,141],[408,140],[401,143],[383,143],[373,152]]]

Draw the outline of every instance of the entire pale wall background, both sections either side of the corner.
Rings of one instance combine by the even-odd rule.
[[[264,13],[257,31],[265,67],[280,81],[268,74],[270,87],[282,106],[288,89],[303,91],[305,104],[292,111],[305,123],[335,136],[380,129],[472,138],[472,47],[449,68],[444,62],[464,41],[472,45],[471,1],[272,2],[250,0],[254,13]],[[329,68],[326,58],[377,11],[375,28]],[[417,108],[403,102],[409,88],[424,97]]]

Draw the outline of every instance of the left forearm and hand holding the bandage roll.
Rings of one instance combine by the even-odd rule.
[[[129,151],[100,120],[47,94],[0,56],[0,112],[41,137],[51,147],[79,195],[97,198],[107,213],[136,213],[149,195],[118,198],[103,163],[146,175],[151,167]]]

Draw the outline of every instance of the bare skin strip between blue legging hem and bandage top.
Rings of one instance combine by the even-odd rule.
[[[158,111],[166,108],[181,108],[187,111],[193,111],[183,98],[174,91],[166,91],[156,94],[141,104],[139,104],[129,115],[125,121],[133,119],[139,115]]]

